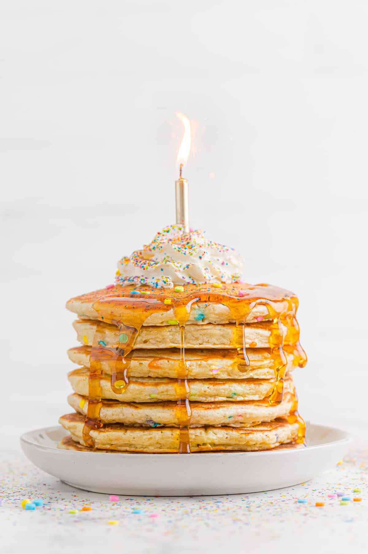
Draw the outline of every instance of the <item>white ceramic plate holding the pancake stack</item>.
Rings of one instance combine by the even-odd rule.
[[[48,427],[20,437],[40,469],[78,489],[124,495],[192,496],[256,493],[311,479],[336,464],[351,437],[341,429],[307,424],[307,447],[265,452],[123,454],[59,450],[67,432]]]

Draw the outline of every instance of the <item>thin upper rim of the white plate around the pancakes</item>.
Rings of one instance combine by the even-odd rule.
[[[344,429],[340,429],[338,427],[331,427],[330,425],[322,425],[322,424],[318,424],[318,423],[311,423],[311,422],[307,422],[307,425],[313,425],[313,427],[324,427],[324,428],[327,428],[328,430],[330,431],[338,431],[338,432],[342,432],[345,434],[345,437],[342,437],[340,439],[337,439],[337,440],[332,440],[328,443],[321,443],[321,444],[314,444],[312,446],[308,446],[306,445],[305,448],[296,448],[296,449],[292,449],[292,450],[289,450],[289,449],[285,449],[285,450],[272,450],[272,449],[269,449],[269,450],[257,450],[256,452],[254,451],[251,451],[251,452],[211,452],[212,454],[212,457],[213,456],[239,456],[239,455],[246,455],[248,458],[250,457],[250,455],[253,455],[253,456],[265,456],[265,455],[269,455],[270,453],[272,453],[272,455],[286,455],[286,454],[301,454],[302,452],[310,452],[311,450],[316,450],[316,449],[320,449],[320,448],[328,448],[328,447],[331,447],[332,445],[338,445],[338,444],[350,444],[352,441],[353,441],[353,434],[348,432],[348,431],[345,431]],[[62,448],[56,448],[56,447],[50,447],[49,445],[46,445],[46,444],[39,444],[39,443],[36,443],[35,440],[32,440],[31,438],[29,438],[27,435],[29,435],[30,433],[41,433],[41,432],[45,432],[46,430],[65,430],[64,427],[62,427],[62,425],[51,425],[51,426],[48,426],[48,427],[41,427],[39,429],[33,429],[33,430],[30,430],[30,431],[26,431],[25,433],[22,433],[22,435],[20,435],[19,437],[19,440],[20,440],[20,444],[22,445],[23,443],[24,444],[27,444],[31,447],[36,447],[37,449],[39,450],[45,450],[46,452],[48,451],[57,451],[58,453],[60,453],[61,455],[91,455],[91,454],[94,454],[93,452],[83,452],[82,450],[66,450],[66,449],[62,449]],[[66,435],[67,436],[67,435]],[[164,458],[172,458],[172,456],[175,456],[177,457],[177,453],[153,453],[153,452],[114,452],[113,450],[111,452],[99,452],[98,453],[100,456],[102,455],[108,455],[109,458],[111,458],[111,455],[112,454],[117,454],[117,455],[121,455],[121,454],[128,454],[129,455],[129,458],[131,458],[132,456],[141,456],[141,455],[144,455],[145,458],[147,456],[159,456],[160,459],[164,459]],[[209,452],[194,452],[194,454],[196,454],[196,458],[198,456],[206,456],[207,454],[209,454]]]

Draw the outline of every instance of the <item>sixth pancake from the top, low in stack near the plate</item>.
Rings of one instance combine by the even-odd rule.
[[[75,442],[85,446],[81,414],[67,414],[59,423],[67,429]],[[288,423],[287,419],[276,419],[254,427],[197,427],[190,429],[192,452],[209,450],[269,450],[280,444],[293,442],[297,438],[298,424]],[[102,429],[92,429],[90,437],[94,446],[120,452],[177,453],[180,430],[174,427],[156,429],[124,427],[119,423],[106,425]]]

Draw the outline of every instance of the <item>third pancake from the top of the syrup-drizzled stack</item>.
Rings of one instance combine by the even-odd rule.
[[[68,350],[70,360],[78,366],[90,367],[91,346],[76,346]],[[280,358],[272,356],[270,348],[247,348],[249,366],[245,365],[242,355],[237,350],[205,350],[192,348],[186,350],[185,361],[188,379],[272,379]],[[285,352],[287,371],[292,371],[298,363],[297,355]],[[155,348],[152,350],[134,350],[127,356],[130,360],[127,375],[129,377],[177,377],[179,348]],[[104,372],[111,373],[108,363]]]

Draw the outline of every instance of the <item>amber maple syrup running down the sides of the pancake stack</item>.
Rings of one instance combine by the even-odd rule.
[[[247,287],[247,285],[242,285]],[[262,290],[260,290],[262,288]],[[264,294],[264,288],[267,288],[267,297]],[[175,320],[170,324],[177,324],[180,329],[180,359],[177,366],[176,396],[177,408],[176,417],[179,425],[179,453],[190,453],[190,420],[191,407],[189,401],[190,387],[188,384],[188,368],[185,361],[185,325],[190,315],[190,307],[197,302],[214,302],[228,307],[232,319],[236,322],[237,329],[242,330],[243,347],[238,348],[239,367],[249,366],[249,357],[246,353],[247,347],[254,347],[256,343],[246,344],[245,325],[247,319],[256,305],[265,305],[272,320],[270,326],[270,348],[271,358],[274,361],[275,370],[275,388],[270,396],[271,404],[282,402],[283,382],[287,366],[287,357],[284,351],[285,343],[293,345],[293,353],[299,366],[306,363],[306,355],[299,344],[299,326],[295,317],[298,306],[296,296],[285,295],[280,298],[280,289],[271,285],[248,286],[245,297],[239,297],[231,294],[232,286],[223,285],[221,292],[214,292],[211,285],[186,285],[183,294],[177,294],[170,297],[169,291],[154,290],[148,291],[142,288],[143,294],[131,294],[130,290],[125,288],[121,293],[108,294],[97,299],[93,304],[93,309],[97,312],[98,321],[96,332],[93,338],[93,345],[90,356],[90,372],[88,378],[88,408],[85,425],[83,427],[83,439],[85,444],[94,448],[90,432],[92,429],[103,427],[99,413],[101,411],[101,386],[100,379],[103,368],[108,367],[111,373],[111,388],[117,394],[122,394],[128,384],[128,370],[131,357],[127,357],[133,350],[136,337],[141,327],[148,317],[155,312],[169,311],[174,309]],[[140,291],[140,292],[141,292]],[[114,324],[119,329],[119,342],[112,348],[107,347],[104,342],[104,328],[101,322]],[[169,323],[169,322],[168,322]],[[241,370],[240,370],[241,371]],[[297,413],[296,406],[293,405],[290,418],[295,419],[299,424],[298,440],[302,440],[303,420]]]

